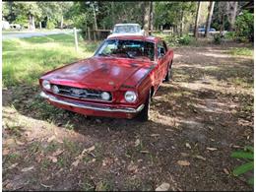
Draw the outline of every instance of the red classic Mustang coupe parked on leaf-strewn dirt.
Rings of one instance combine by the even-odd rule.
[[[44,74],[40,96],[93,116],[149,119],[151,97],[169,81],[173,51],[159,37],[105,39],[93,57]]]

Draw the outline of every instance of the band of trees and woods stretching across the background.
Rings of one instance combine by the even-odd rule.
[[[4,2],[3,18],[25,28],[111,30],[117,23],[138,23],[146,33],[171,30],[175,35],[198,27],[235,31],[235,19],[253,2]],[[249,9],[251,14],[252,9]],[[253,21],[253,17],[252,17]],[[251,22],[251,21],[250,21]],[[253,26],[253,23],[252,23]],[[208,31],[205,31],[208,35]],[[252,32],[253,33],[253,32]],[[253,34],[251,34],[253,35]]]

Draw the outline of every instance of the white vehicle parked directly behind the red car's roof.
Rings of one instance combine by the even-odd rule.
[[[116,24],[107,37],[119,35],[145,35],[139,24]]]

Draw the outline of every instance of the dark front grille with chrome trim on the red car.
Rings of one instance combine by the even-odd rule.
[[[93,100],[102,100],[102,101],[111,101],[112,96],[111,93],[106,92],[110,95],[109,100],[104,100],[101,98],[101,94],[105,91],[97,91],[97,90],[90,90],[90,89],[81,89],[81,88],[74,88],[69,86],[60,86],[60,85],[52,85],[57,86],[59,89],[59,93],[57,95],[61,96],[69,96],[75,97],[80,99],[93,99]]]

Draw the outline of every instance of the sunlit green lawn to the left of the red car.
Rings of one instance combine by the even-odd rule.
[[[98,43],[79,35],[75,51],[73,34],[52,34],[3,41],[3,86],[36,85],[45,72],[93,55]]]

